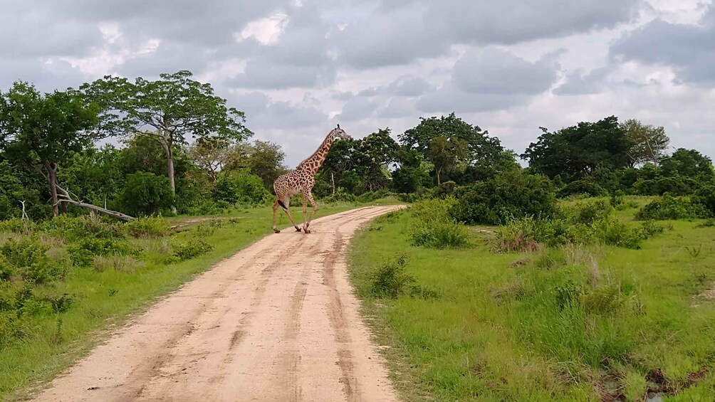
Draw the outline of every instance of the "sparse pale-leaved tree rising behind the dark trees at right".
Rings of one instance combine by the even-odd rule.
[[[666,136],[664,127],[645,125],[636,119],[629,119],[621,123],[621,129],[626,133],[626,138],[633,144],[628,151],[631,167],[645,164],[646,162],[652,162],[658,166],[670,144],[670,139]]]

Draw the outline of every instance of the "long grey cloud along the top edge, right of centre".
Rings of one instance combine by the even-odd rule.
[[[385,2],[338,33],[335,46],[358,69],[409,64],[453,44],[517,44],[612,28],[630,21],[638,0]]]

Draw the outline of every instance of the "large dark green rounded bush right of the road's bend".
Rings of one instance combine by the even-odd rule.
[[[494,179],[454,191],[457,203],[450,214],[463,223],[503,224],[510,218],[538,216],[556,212],[556,196],[551,181],[543,176],[509,171]]]

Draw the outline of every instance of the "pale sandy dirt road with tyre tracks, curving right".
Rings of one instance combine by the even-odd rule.
[[[159,301],[36,401],[395,401],[345,247],[396,206],[272,234]]]

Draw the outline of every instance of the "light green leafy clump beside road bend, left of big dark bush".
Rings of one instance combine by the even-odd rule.
[[[448,212],[455,202],[454,199],[430,199],[410,208],[414,219],[409,233],[414,246],[459,248],[469,244],[469,229]]]

